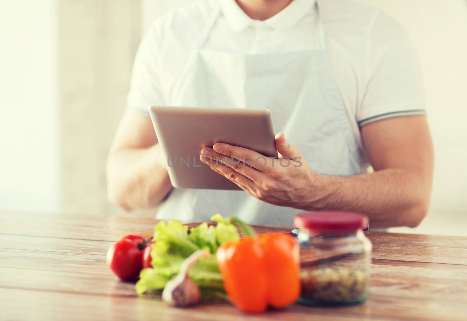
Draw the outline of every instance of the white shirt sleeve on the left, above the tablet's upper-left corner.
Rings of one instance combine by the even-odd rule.
[[[156,50],[155,25],[149,27],[134,58],[127,96],[127,110],[149,116],[148,108],[164,105],[163,88],[160,81],[161,69]]]

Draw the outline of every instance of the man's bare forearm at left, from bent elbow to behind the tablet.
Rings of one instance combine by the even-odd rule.
[[[107,186],[111,201],[126,210],[158,205],[172,188],[159,144],[113,152]]]

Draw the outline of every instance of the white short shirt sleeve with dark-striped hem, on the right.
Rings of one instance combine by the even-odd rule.
[[[417,55],[402,26],[377,14],[370,29],[365,88],[357,122],[425,114],[425,94]]]

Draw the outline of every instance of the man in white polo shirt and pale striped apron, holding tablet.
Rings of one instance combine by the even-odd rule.
[[[212,162],[243,191],[172,189],[150,105],[269,108],[278,152],[301,166]],[[261,156],[221,142],[200,153]],[[350,0],[202,0],[144,37],[107,173],[114,203],[162,203],[159,219],[292,225],[303,210],[343,210],[377,228],[420,223],[432,168],[417,61],[389,17]]]

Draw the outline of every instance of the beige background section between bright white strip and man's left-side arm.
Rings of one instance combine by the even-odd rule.
[[[141,40],[140,1],[59,0],[58,8],[61,210],[120,213],[107,200],[105,167]]]

